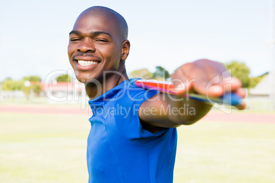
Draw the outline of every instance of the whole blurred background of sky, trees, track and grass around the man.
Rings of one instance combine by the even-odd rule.
[[[217,105],[179,128],[174,182],[275,182],[274,0],[0,0],[0,182],[88,181],[92,113],[67,46],[93,5],[127,20],[131,77],[169,81],[206,58],[246,88],[246,110]]]

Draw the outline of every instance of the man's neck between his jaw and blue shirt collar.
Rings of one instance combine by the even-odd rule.
[[[94,83],[85,84],[86,93],[88,94],[88,97],[90,98],[90,100],[98,96],[101,96],[102,94],[109,91],[113,87],[116,87],[117,85],[119,85],[122,81],[125,81],[125,80],[129,81],[129,78],[127,76],[127,72],[125,69],[125,65],[123,64],[123,66],[120,68],[121,69],[119,69],[116,72],[116,74],[114,73],[109,75],[107,74],[105,76],[106,78],[105,81],[99,81],[98,85]]]

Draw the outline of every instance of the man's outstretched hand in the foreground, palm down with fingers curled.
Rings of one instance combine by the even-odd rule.
[[[239,79],[232,77],[224,65],[208,59],[183,64],[171,79],[179,93],[196,92],[209,98],[220,97],[224,92],[233,92],[241,98],[246,96]],[[237,109],[245,108],[245,103],[237,106]]]

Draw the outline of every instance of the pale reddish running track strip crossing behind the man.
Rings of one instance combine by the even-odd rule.
[[[58,107],[24,107],[24,106],[0,106],[0,113],[51,113],[51,114],[79,114],[91,116],[90,108],[58,108]],[[275,114],[273,113],[246,113],[233,112],[231,114],[221,111],[212,111],[202,120],[213,122],[257,122],[275,124]]]

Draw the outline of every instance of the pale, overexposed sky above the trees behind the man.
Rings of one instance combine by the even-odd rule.
[[[68,33],[93,5],[112,8],[127,20],[128,73],[154,72],[155,66],[173,72],[202,58],[244,62],[250,76],[274,68],[269,0],[0,0],[0,81],[71,73]]]

